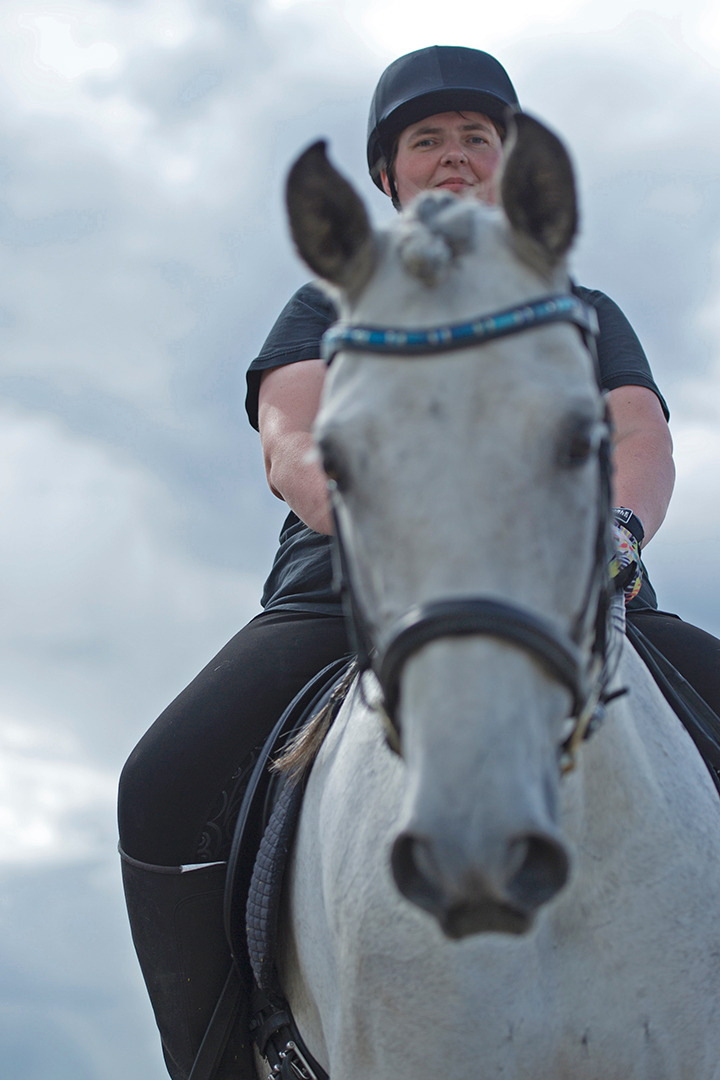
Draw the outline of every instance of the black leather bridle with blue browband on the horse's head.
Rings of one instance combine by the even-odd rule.
[[[518,308],[481,315],[467,323],[431,329],[395,329],[339,324],[323,338],[323,357],[329,364],[338,352],[357,351],[389,356],[435,355],[534,329],[551,323],[578,326],[593,357],[599,386],[595,310],[572,294],[543,297]],[[336,582],[343,595],[361,671],[371,669],[382,690],[380,712],[390,745],[400,752],[397,704],[403,669],[423,646],[438,638],[477,636],[499,638],[529,652],[571,696],[570,732],[560,746],[563,771],[573,767],[581,742],[599,725],[611,677],[608,667],[608,615],[612,596],[610,573],[610,444],[609,434],[598,447],[600,469],[598,528],[595,559],[585,597],[569,634],[545,619],[514,604],[484,596],[447,597],[412,607],[375,642],[357,593],[340,528],[339,495],[329,482],[335,518]],[[594,605],[594,607],[593,607]],[[588,611],[592,617],[588,617]],[[587,647],[589,645],[589,648]]]

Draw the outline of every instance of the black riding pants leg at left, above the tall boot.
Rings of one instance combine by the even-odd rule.
[[[218,796],[313,675],[350,652],[341,616],[268,611],[167,706],[120,779],[120,846],[161,866],[201,861]]]

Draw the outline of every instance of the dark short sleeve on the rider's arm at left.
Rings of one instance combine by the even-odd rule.
[[[321,338],[337,318],[338,313],[330,298],[312,283],[299,288],[285,305],[260,352],[247,369],[245,409],[256,431],[262,373],[271,367],[297,364],[301,360],[317,360]]]

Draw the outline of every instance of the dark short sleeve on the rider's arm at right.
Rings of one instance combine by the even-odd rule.
[[[602,389],[647,387],[657,396],[665,419],[669,419],[665,399],[655,384],[638,336],[614,300],[599,289],[585,288],[583,285],[573,285],[572,291],[597,312],[600,325],[598,363]]]

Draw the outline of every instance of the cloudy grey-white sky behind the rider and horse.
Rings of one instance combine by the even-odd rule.
[[[661,604],[720,634],[720,12],[693,0],[3,0],[0,1080],[164,1076],[113,800],[155,715],[258,608],[283,508],[244,372],[305,280],[284,174],[320,135],[378,220],[369,96],[493,51],[572,148],[578,278],[673,414]]]

